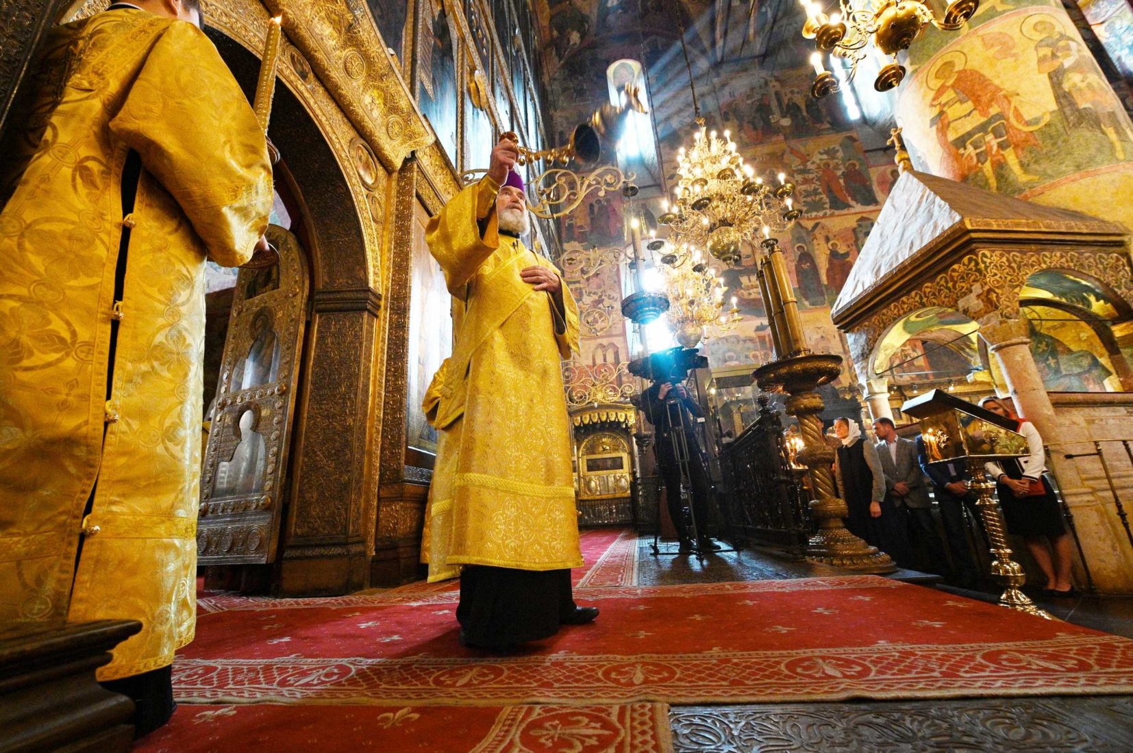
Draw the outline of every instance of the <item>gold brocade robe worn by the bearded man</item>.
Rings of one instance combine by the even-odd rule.
[[[578,350],[578,308],[565,283],[560,311],[520,279],[523,267],[553,267],[499,234],[497,190],[489,178],[469,186],[426,232],[455,333],[423,405],[440,433],[421,547],[429,581],[460,565],[582,564],[560,362]]]

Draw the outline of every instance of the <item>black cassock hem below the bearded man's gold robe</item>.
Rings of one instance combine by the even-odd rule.
[[[576,609],[569,570],[466,565],[457,621],[474,645],[504,647],[559,632]]]

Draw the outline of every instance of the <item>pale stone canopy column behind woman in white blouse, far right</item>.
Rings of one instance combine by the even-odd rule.
[[[1020,416],[1034,425],[1043,442],[1053,444],[1047,453],[1047,465],[1055,472],[1063,499],[1074,517],[1094,584],[1102,592],[1128,592],[1133,589],[1133,557],[1123,546],[1125,533],[1114,512],[1108,488],[1087,486],[1079,465],[1065,457],[1067,453],[1092,452],[1093,443],[1088,440],[1087,428],[1075,419],[1065,412],[1055,413],[1031,354],[1026,319],[990,318],[980,324],[980,336],[998,359]],[[1065,444],[1076,442],[1083,444]],[[1080,584],[1085,582],[1081,573],[1076,573],[1075,579]]]

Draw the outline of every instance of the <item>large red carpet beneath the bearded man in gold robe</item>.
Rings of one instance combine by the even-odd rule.
[[[493,657],[451,591],[202,615],[178,699],[493,705],[1133,692],[1133,641],[874,576],[587,588],[593,625]]]

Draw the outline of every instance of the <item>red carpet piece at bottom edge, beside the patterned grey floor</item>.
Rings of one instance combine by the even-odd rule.
[[[135,751],[670,753],[668,708],[181,705]]]

